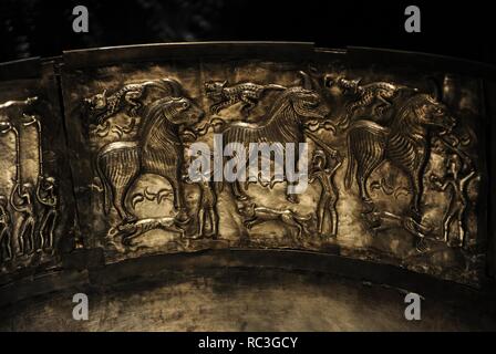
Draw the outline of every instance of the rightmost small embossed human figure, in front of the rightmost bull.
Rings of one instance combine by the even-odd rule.
[[[440,179],[440,177],[431,175],[431,181],[437,190],[450,190],[450,202],[443,220],[443,239],[445,242],[450,241],[450,229],[453,222],[456,222],[458,228],[458,243],[456,246],[465,246],[465,211],[468,205],[466,188],[475,176],[475,170],[471,170],[466,176],[461,176],[463,162],[456,154],[448,156],[445,167],[444,178]]]

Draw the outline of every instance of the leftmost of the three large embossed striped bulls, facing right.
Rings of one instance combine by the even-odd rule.
[[[182,95],[179,83],[168,82],[169,95],[147,105],[138,138],[110,143],[102,147],[96,158],[97,173],[104,186],[105,212],[108,214],[112,202],[123,223],[136,220],[125,200],[131,186],[143,174],[164,177],[174,191],[177,220],[189,220],[180,181],[184,146],[179,127],[198,123],[204,112]]]

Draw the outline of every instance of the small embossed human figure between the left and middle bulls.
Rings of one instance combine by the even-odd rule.
[[[198,210],[196,216],[197,229],[192,238],[202,238],[204,236],[214,239],[218,236],[219,217],[217,212],[217,191],[211,174],[202,175],[199,180],[192,181],[188,177],[185,178],[187,184],[195,184],[199,187],[198,194]],[[207,227],[207,218],[210,223],[210,232],[205,233]]]

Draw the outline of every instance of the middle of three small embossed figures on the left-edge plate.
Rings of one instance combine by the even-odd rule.
[[[21,254],[30,254],[34,251],[34,205],[33,205],[33,186],[25,183],[20,186],[16,183],[10,195],[10,205],[13,210],[21,214],[21,223],[18,229],[18,240]]]

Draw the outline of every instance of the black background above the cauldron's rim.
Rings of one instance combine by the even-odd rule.
[[[74,33],[72,9],[90,11]],[[422,33],[404,31],[416,4]],[[310,41],[496,63],[490,1],[0,0],[0,62],[63,50],[173,41]]]

